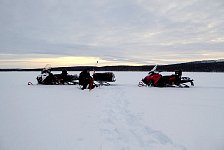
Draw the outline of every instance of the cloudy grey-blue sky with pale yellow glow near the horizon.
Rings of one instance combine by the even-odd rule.
[[[207,59],[224,59],[223,0],[0,0],[0,68]]]

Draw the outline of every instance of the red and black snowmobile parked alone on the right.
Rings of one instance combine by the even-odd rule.
[[[189,77],[182,77],[182,71],[177,70],[175,74],[163,76],[161,73],[156,71],[155,66],[148,75],[143,78],[138,86],[152,86],[152,87],[190,87],[187,83],[190,83],[191,86],[194,86],[194,80]]]

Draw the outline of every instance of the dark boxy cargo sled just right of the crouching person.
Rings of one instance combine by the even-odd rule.
[[[104,72],[104,73],[94,73],[93,74],[94,81],[98,82],[101,85],[110,85],[109,82],[115,82],[115,75],[113,72]]]

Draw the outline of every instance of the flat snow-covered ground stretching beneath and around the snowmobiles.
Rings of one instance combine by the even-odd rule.
[[[183,73],[191,88],[138,87],[146,72],[114,73],[112,86],[89,91],[0,72],[0,150],[224,149],[224,73]]]

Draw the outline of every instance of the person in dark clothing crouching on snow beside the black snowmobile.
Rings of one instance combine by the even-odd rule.
[[[90,70],[89,69],[84,69],[80,74],[79,74],[79,85],[82,86],[81,89],[84,90],[87,88],[89,85],[89,89],[93,89],[93,78],[90,76]]]

